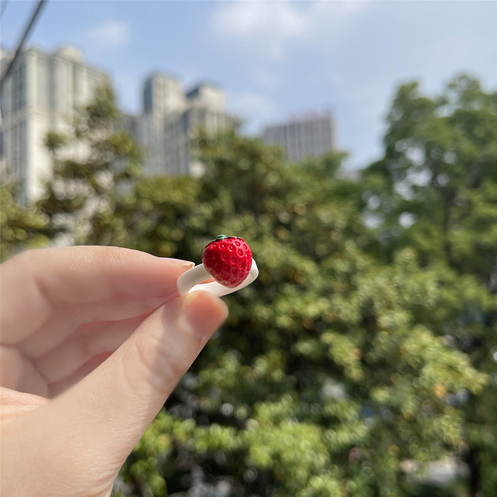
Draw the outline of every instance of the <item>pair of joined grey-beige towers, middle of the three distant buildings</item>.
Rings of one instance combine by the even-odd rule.
[[[226,98],[213,84],[198,84],[185,92],[171,75],[155,73],[143,84],[143,114],[128,116],[129,131],[146,148],[147,175],[200,175],[202,165],[190,154],[199,129],[217,133],[234,124],[226,114]]]

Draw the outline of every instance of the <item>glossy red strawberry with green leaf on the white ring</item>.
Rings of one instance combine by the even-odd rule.
[[[214,280],[235,288],[249,275],[252,251],[243,238],[219,235],[205,246],[202,263]]]

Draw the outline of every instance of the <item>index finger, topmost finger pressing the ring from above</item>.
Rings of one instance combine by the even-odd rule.
[[[78,309],[90,320],[143,312],[176,297],[176,280],[192,265],[119,247],[23,252],[0,266],[1,343],[21,342],[67,309],[76,320]]]

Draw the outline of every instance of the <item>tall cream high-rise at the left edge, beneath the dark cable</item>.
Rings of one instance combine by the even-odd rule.
[[[2,50],[1,67],[13,54]],[[65,46],[53,53],[31,47],[19,54],[1,85],[2,176],[17,180],[21,201],[37,198],[50,178],[52,158],[45,149],[50,130],[64,131],[75,109],[107,82],[102,70],[83,62],[82,53]]]

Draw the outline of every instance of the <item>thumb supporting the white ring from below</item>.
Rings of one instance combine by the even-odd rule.
[[[40,427],[40,440],[26,439],[31,452],[49,445],[53,454],[69,453],[64,463],[77,474],[97,468],[113,478],[227,312],[202,291],[159,307],[107,361],[23,417]]]

